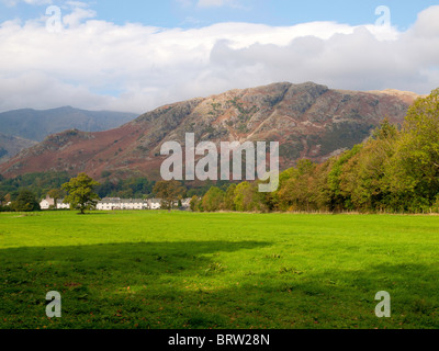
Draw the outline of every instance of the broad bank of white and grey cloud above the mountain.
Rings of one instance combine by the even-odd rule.
[[[60,33],[44,21],[0,25],[0,111],[68,104],[142,113],[274,81],[419,93],[439,87],[439,7],[406,32],[333,22],[158,29],[94,15],[75,8]]]

